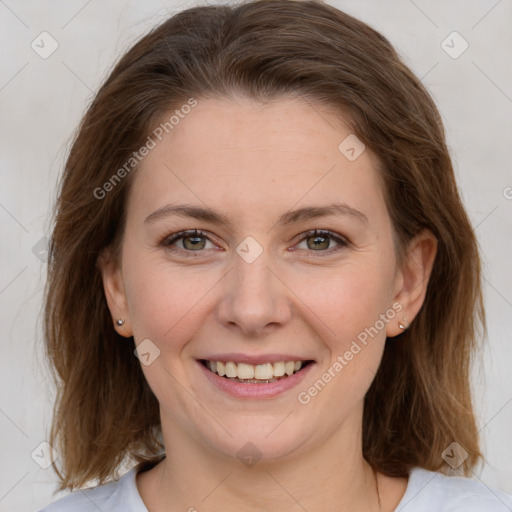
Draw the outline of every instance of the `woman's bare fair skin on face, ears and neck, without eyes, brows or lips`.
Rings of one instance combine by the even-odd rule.
[[[363,399],[386,337],[423,303],[436,241],[421,233],[398,266],[375,156],[367,149],[349,161],[338,150],[350,133],[332,110],[299,99],[205,99],[137,170],[120,261],[106,252],[101,269],[113,322],[125,319],[115,328],[160,350],[141,365],[160,404],[167,453],[137,476],[150,512],[391,511],[403,496],[407,479],[376,479],[362,456]],[[277,223],[291,209],[340,202],[367,222],[331,215]],[[170,203],[207,206],[231,225],[178,216],[144,222]],[[174,252],[162,243],[189,229],[208,237],[198,257],[183,239]],[[348,245],[327,238],[311,248],[314,237],[309,246],[300,238],[313,229]],[[263,248],[252,263],[236,252],[247,236]],[[402,311],[299,403],[298,393],[396,303]],[[279,396],[234,398],[196,362],[221,352],[299,354],[315,367]],[[247,442],[262,457],[252,467],[237,458]]]

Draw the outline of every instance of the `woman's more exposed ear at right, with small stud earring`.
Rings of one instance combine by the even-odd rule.
[[[396,322],[387,324],[386,335],[389,338],[401,334],[404,329],[400,328],[399,323],[407,328],[421,309],[436,253],[437,239],[428,229],[410,241],[402,268],[398,272],[394,298],[395,303],[402,305],[402,310]]]

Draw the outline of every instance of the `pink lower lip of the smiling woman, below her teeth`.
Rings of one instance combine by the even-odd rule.
[[[220,377],[211,372],[200,361],[197,361],[206,378],[217,388],[237,398],[272,398],[296,386],[306,377],[315,363],[309,363],[302,370],[285,377],[284,379],[269,382],[268,384],[253,384],[236,382],[234,380]]]

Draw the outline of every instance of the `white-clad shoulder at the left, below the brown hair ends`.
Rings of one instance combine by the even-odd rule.
[[[137,490],[136,471],[132,468],[114,482],[74,491],[40,512],[148,512]]]

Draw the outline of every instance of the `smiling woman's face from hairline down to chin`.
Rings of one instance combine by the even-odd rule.
[[[360,430],[405,278],[376,160],[348,159],[349,135],[300,100],[208,99],[143,160],[103,276],[119,332],[144,343],[164,439],[272,459]],[[288,376],[292,361],[309,363]]]

